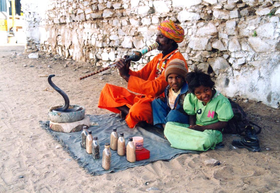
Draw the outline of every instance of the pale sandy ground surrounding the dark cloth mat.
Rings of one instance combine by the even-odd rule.
[[[53,82],[66,91],[71,104],[85,106],[87,114],[109,113],[97,108],[102,87],[107,82],[125,87],[126,82],[115,70],[79,81],[97,68],[54,61],[42,53],[39,59],[28,59],[19,54],[23,51],[22,46],[0,46],[0,192],[147,192],[151,187],[158,190],[150,192],[280,192],[279,109],[245,104],[242,98],[237,102],[263,128],[261,152],[233,149],[231,141],[238,137],[223,135],[225,148],[219,150],[90,176],[39,127],[39,120],[48,119],[48,109],[63,99],[38,75],[56,74]],[[210,158],[221,165],[204,166]]]

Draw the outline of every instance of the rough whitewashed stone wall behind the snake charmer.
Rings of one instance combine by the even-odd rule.
[[[41,50],[107,66],[131,50],[153,43],[157,25],[171,19],[185,29],[179,49],[190,69],[197,66],[211,74],[227,96],[279,106],[279,1],[46,2],[39,25]],[[148,53],[133,67],[142,68],[157,53]]]

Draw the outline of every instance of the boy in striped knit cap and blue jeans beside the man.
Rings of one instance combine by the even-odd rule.
[[[164,75],[169,85],[164,91],[165,98],[157,96],[152,102],[155,126],[164,128],[168,121],[189,123],[189,116],[183,109],[188,91],[188,84],[185,81],[187,73],[185,62],[180,59],[174,59],[166,66]]]

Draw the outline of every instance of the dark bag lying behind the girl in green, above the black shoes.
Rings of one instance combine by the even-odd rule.
[[[245,127],[248,125],[253,125],[258,127],[257,134],[260,132],[261,127],[249,121],[246,112],[243,111],[239,104],[233,102],[230,98],[228,98],[230,105],[233,111],[233,118],[228,121],[228,125],[224,128],[223,133],[234,133],[234,134],[241,134],[245,131]]]

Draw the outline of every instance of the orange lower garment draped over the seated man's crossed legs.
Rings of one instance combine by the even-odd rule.
[[[139,121],[153,124],[152,100],[151,95],[136,95],[123,87],[106,84],[101,91],[98,107],[120,113],[117,107],[126,105],[129,113],[125,121],[130,128],[134,128]]]

